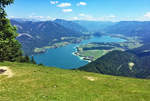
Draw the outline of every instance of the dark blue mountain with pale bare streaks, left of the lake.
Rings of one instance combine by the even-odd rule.
[[[31,54],[36,47],[52,44],[52,40],[60,40],[61,37],[79,37],[82,33],[67,29],[64,26],[52,22],[32,22],[11,20],[11,24],[18,28],[19,36],[25,54]]]

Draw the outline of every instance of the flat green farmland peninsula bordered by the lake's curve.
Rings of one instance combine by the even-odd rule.
[[[108,34],[107,34],[108,35]],[[77,47],[76,55],[83,57],[85,60],[94,61],[110,51],[121,50],[126,51],[143,46],[138,37],[125,37],[120,35],[110,35],[111,37],[123,38],[125,40],[118,42],[92,42]],[[108,38],[106,38],[107,40]],[[108,39],[109,40],[109,39]]]

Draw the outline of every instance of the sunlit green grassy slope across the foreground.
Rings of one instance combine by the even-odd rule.
[[[115,77],[32,64],[0,63],[0,101],[149,101],[150,80]],[[90,81],[87,77],[95,78]]]

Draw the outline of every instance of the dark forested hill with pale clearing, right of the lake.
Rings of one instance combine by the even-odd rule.
[[[139,57],[131,52],[112,51],[79,70],[137,78],[150,77],[150,56]]]

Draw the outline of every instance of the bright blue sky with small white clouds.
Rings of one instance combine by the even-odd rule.
[[[150,21],[150,0],[15,0],[9,18]]]

